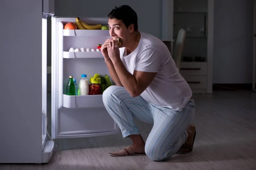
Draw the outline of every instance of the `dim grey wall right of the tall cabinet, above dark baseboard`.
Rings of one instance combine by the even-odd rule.
[[[251,83],[253,0],[215,0],[213,83]]]

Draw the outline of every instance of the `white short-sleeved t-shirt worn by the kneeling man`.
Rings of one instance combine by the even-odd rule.
[[[151,34],[142,31],[140,34],[140,42],[131,54],[119,48],[121,60],[131,74],[134,70],[157,72],[140,96],[149,103],[182,111],[192,96],[188,83],[180,75],[166,45]]]

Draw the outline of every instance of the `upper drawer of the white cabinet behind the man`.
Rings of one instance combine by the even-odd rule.
[[[180,74],[182,76],[206,76],[207,62],[181,62]]]

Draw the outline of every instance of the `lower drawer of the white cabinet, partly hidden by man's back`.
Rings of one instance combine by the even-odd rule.
[[[191,89],[206,89],[207,76],[184,76]]]

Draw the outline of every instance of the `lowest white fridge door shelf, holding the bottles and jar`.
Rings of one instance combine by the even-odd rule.
[[[63,94],[64,108],[103,108],[102,94],[86,96],[69,96]]]

